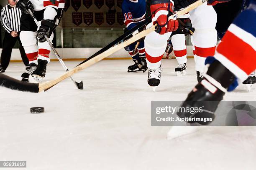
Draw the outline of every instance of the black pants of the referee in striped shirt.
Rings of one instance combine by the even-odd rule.
[[[20,55],[21,55],[22,61],[25,65],[28,65],[28,57],[26,56],[26,52],[23,46],[21,45],[20,37],[19,36],[13,37],[8,32],[5,32],[5,37],[3,40],[3,50],[0,58],[1,67],[3,67],[5,70],[10,63],[12,50],[17,40],[20,43],[19,49],[20,49]]]

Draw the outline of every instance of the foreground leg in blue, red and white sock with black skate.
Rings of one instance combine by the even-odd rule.
[[[215,54],[217,60],[207,58],[209,67],[206,74],[189,93],[182,107],[198,106],[200,103],[197,101],[212,101],[210,105],[206,105],[200,114],[179,112],[180,117],[214,117],[212,113],[217,109],[219,101],[223,100],[225,92],[234,90],[239,82],[246,80],[256,69],[255,18],[256,10],[251,5],[234,20],[218,45]]]

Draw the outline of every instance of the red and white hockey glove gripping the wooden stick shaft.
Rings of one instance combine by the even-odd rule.
[[[172,17],[174,6],[170,0],[152,0],[150,5],[153,25],[156,32],[165,34],[178,29],[179,22]]]

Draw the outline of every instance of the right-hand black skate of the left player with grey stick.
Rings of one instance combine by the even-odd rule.
[[[36,70],[34,70],[31,73],[31,75],[36,81],[41,82],[45,77],[46,65],[48,62],[46,60],[41,60],[41,59],[38,59],[37,62],[38,62],[38,65],[36,67]]]

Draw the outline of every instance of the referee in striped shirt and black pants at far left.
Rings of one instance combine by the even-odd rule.
[[[18,40],[20,43],[20,55],[26,69],[29,69],[28,58],[24,51],[23,46],[20,42],[19,32],[20,32],[20,17],[21,10],[18,7],[15,7],[15,2],[13,0],[8,0],[8,5],[5,5],[1,10],[1,23],[5,29],[5,37],[3,40],[3,50],[0,58],[0,72],[5,72],[6,68],[9,65],[10,57],[12,54],[12,49]]]

